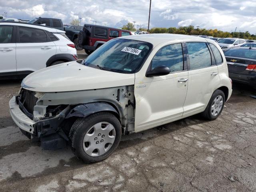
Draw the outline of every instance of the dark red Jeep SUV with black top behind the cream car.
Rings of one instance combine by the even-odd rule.
[[[130,31],[99,25],[84,24],[83,30],[79,33],[78,42],[80,47],[84,48],[85,52],[89,55],[107,41],[128,35],[132,35]]]

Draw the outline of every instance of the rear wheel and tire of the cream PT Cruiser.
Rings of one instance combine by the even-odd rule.
[[[222,90],[215,90],[206,109],[202,112],[202,116],[207,120],[215,120],[218,118],[224,108],[225,99],[225,94]]]

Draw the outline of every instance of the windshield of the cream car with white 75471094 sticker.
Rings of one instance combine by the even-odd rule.
[[[86,66],[118,73],[135,73],[152,49],[152,44],[129,39],[113,39],[84,60]]]

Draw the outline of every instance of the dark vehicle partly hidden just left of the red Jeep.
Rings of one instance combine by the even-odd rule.
[[[83,30],[83,26],[69,25],[65,26],[66,36],[75,44],[76,50],[82,50],[83,48],[78,44],[78,34]]]

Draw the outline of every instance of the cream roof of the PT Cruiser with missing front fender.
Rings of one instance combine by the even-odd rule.
[[[142,35],[130,35],[130,36],[123,36],[118,38],[125,38],[125,39],[131,39],[131,40],[138,40],[138,41],[144,41],[149,42],[153,44],[153,46],[156,46],[160,43],[165,42],[172,42],[172,41],[198,41],[198,42],[214,42],[214,40],[205,39],[198,36],[190,36],[190,35],[181,35],[181,34],[142,34]]]

